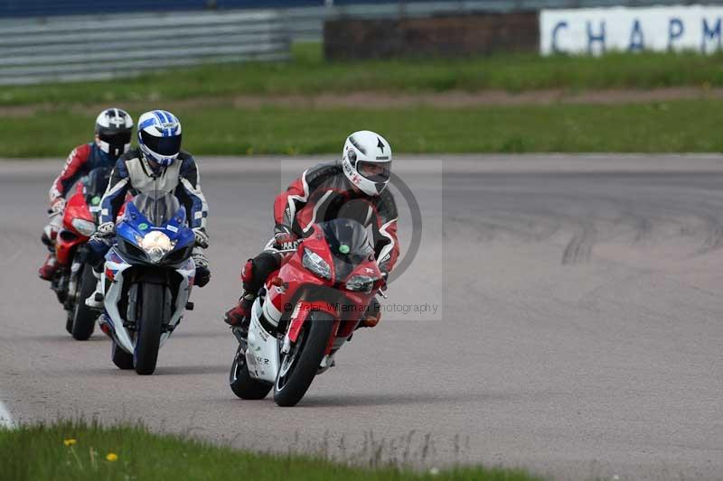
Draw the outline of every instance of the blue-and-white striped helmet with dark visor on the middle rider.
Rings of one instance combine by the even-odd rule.
[[[138,118],[138,146],[146,159],[168,167],[181,152],[181,122],[165,110],[151,110]]]

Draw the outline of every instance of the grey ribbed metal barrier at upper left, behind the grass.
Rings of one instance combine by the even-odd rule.
[[[276,11],[0,21],[0,85],[109,79],[203,62],[286,60]]]

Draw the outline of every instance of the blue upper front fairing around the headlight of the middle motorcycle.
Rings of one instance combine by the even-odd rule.
[[[186,226],[185,208],[179,208],[167,222],[160,226],[155,226],[136,208],[133,202],[127,202],[126,212],[117,224],[116,235],[140,248],[136,237],[142,238],[154,230],[162,230],[172,242],[176,241],[171,253],[188,247],[195,242],[192,229]]]

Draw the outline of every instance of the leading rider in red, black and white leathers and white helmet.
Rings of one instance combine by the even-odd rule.
[[[397,205],[387,185],[391,175],[390,143],[369,130],[355,132],[344,143],[342,159],[307,169],[274,202],[275,235],[261,254],[241,270],[244,291],[239,304],[226,312],[231,326],[245,326],[250,307],[266,282],[284,261],[279,250],[296,246],[299,237],[316,222],[352,218],[371,226],[377,263],[389,275],[399,257]],[[362,326],[380,319],[379,303]]]

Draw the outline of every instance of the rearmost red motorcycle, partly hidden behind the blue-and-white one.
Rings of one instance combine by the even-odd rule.
[[[97,280],[92,266],[83,259],[85,245],[96,231],[100,199],[108,186],[109,174],[108,169],[94,169],[76,184],[75,193],[65,206],[54,246],[58,270],[51,289],[67,311],[65,329],[78,340],[90,337],[98,318],[98,312],[85,305]]]

